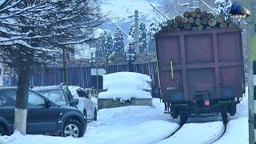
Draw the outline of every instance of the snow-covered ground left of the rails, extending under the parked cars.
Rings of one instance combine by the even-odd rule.
[[[98,111],[98,121],[90,122],[83,138],[60,138],[15,133],[0,137],[1,144],[85,144],[154,143],[178,129],[178,123],[163,114],[163,105],[154,99],[151,106],[126,106]]]

